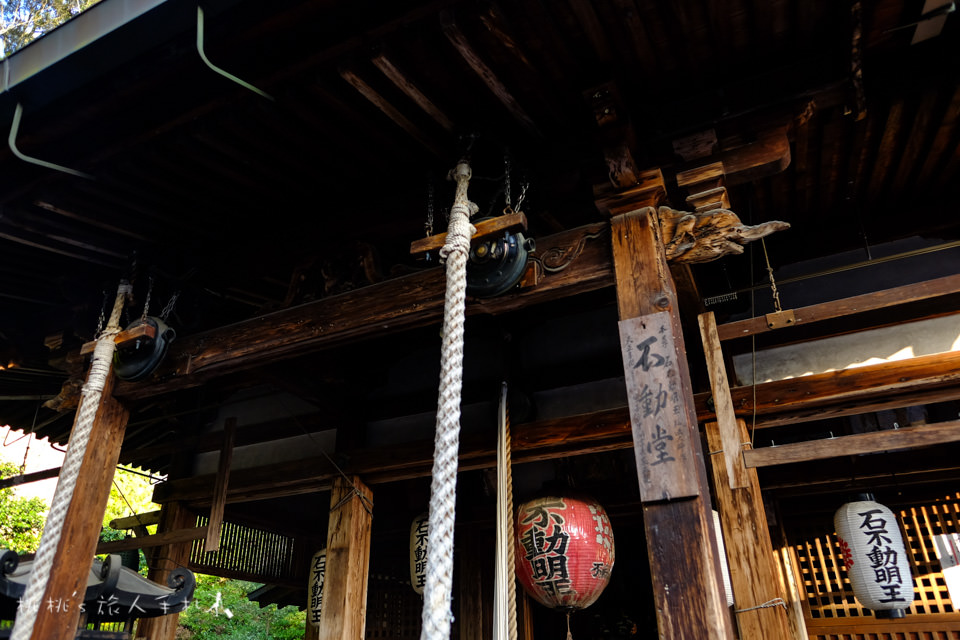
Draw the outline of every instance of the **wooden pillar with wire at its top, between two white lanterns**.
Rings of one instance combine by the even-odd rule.
[[[330,492],[320,640],[364,637],[372,521],[373,492],[357,476],[337,477]]]

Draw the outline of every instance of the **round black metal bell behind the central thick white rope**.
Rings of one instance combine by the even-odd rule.
[[[535,248],[533,238],[524,238],[519,232],[474,246],[467,263],[467,293],[490,298],[507,292],[520,280],[527,256]]]

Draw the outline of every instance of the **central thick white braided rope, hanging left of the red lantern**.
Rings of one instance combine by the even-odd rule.
[[[440,354],[440,393],[434,438],[433,481],[430,485],[430,544],[423,590],[421,640],[450,637],[450,594],[453,588],[453,521],[457,494],[457,456],[460,449],[460,390],[463,387],[463,319],[467,293],[470,238],[476,231],[470,215],[476,205],[467,200],[470,165],[453,170],[456,196],[450,210],[447,242],[440,250],[447,266]]]

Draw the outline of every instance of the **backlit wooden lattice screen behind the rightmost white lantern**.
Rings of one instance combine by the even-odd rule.
[[[960,640],[960,613],[934,547],[934,536],[960,532],[960,493],[902,508],[898,516],[914,579],[914,600],[902,620],[878,620],[857,602],[832,531],[791,527],[811,639]]]

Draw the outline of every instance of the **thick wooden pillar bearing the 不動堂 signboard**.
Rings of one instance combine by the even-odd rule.
[[[656,211],[614,215],[611,232],[659,637],[729,639],[690,374]]]

